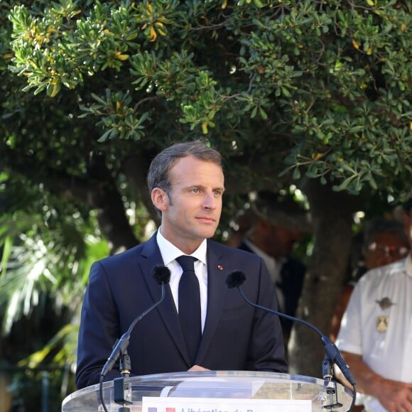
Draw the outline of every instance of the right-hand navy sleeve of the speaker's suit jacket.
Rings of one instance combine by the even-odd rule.
[[[265,308],[277,310],[278,305],[271,278],[264,261],[261,258],[258,259],[258,269],[254,270],[254,272],[257,273],[250,273],[248,276],[256,276],[256,281],[258,282],[256,298],[255,300],[253,300],[253,298],[250,300]],[[254,280],[255,279],[251,279],[250,283],[252,284]],[[247,283],[246,278],[246,282],[244,283],[246,296],[248,296]],[[249,290],[249,293],[251,293],[250,296],[253,296],[253,291]],[[287,372],[288,370],[285,360],[281,322],[278,316],[257,308],[254,313],[254,326],[251,332],[248,369],[273,372]]]

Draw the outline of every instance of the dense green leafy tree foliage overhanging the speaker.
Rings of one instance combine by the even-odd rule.
[[[407,2],[46,4],[12,9],[11,70],[100,141],[193,131],[352,193],[411,173]]]

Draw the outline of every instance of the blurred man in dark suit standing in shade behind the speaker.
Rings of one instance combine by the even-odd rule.
[[[264,259],[279,310],[295,316],[306,267],[291,257],[291,251],[301,238],[301,230],[309,228],[307,214],[293,200],[280,200],[276,193],[262,191],[251,193],[249,197],[251,207],[246,215],[242,215],[248,227],[244,228],[244,237],[238,247]],[[281,318],[281,325],[287,345],[293,321]]]

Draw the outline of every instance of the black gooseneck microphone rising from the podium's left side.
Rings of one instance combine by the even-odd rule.
[[[130,335],[131,331],[134,329],[135,325],[139,320],[144,318],[151,310],[156,308],[160,303],[162,303],[163,299],[165,298],[165,285],[167,285],[170,281],[170,269],[168,269],[167,266],[163,265],[156,265],[153,268],[153,278],[155,278],[156,282],[161,285],[161,298],[151,305],[150,308],[146,309],[141,315],[139,315],[129,326],[129,329],[124,332],[124,334],[121,336],[121,338],[116,342],[116,345],[114,346],[114,349],[112,350],[112,353],[110,354],[109,358],[107,359],[106,364],[104,364],[104,367],[102,369],[102,372],[100,373],[100,378],[106,376],[113,368],[114,363],[116,362],[117,359],[119,359],[119,356],[121,354],[126,353],[126,349],[129,346],[129,340],[130,340]]]

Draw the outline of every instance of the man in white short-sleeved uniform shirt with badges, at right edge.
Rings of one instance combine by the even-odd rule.
[[[403,209],[412,244],[412,197]],[[412,411],[412,251],[362,276],[336,344],[357,381],[357,404],[369,412]]]

